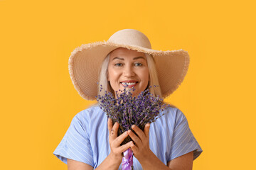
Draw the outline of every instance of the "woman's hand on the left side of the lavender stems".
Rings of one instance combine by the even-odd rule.
[[[128,142],[125,145],[120,146],[123,140],[128,136],[128,132],[126,131],[122,133],[122,135],[119,135],[117,137],[119,123],[114,123],[113,125],[112,120],[110,118],[107,120],[107,128],[109,130],[109,142],[111,148],[109,156],[112,158],[114,162],[117,162],[117,164],[119,165],[122,162],[122,152],[131,147],[132,141]]]

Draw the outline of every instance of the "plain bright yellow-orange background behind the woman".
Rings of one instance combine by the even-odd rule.
[[[253,1],[0,1],[1,169],[67,169],[53,155],[75,114],[70,53],[134,28],[191,64],[166,101],[203,153],[193,169],[255,169]]]

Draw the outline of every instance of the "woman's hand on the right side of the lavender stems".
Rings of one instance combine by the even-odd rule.
[[[137,125],[132,125],[132,130],[134,130],[138,136],[135,135],[132,130],[128,130],[128,135],[132,137],[132,140],[135,143],[135,145],[131,145],[132,152],[139,162],[150,157],[150,154],[153,153],[149,148],[149,128],[149,123],[146,123],[144,131],[139,129]]]

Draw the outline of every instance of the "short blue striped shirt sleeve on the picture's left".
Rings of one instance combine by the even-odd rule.
[[[90,138],[87,133],[89,128],[81,113],[75,115],[70,123],[70,127],[53,154],[65,164],[67,164],[68,158],[84,162],[93,167],[92,147],[90,146]]]

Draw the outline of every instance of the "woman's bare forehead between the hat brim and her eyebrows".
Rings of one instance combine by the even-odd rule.
[[[110,52],[110,58],[113,57],[145,57],[144,52],[137,52],[135,50],[129,50],[127,48],[119,47]]]

